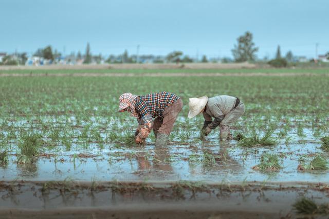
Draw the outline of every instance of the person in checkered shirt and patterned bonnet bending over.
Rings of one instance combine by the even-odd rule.
[[[119,100],[119,112],[129,111],[139,123],[135,133],[136,143],[141,143],[153,129],[156,147],[167,144],[169,134],[183,105],[178,96],[169,92],[143,96],[125,93]]]

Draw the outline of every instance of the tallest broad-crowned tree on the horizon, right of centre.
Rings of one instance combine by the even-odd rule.
[[[252,33],[247,31],[244,35],[237,38],[237,45],[234,45],[232,54],[235,62],[253,61],[255,60],[255,53],[258,49],[252,42]]]

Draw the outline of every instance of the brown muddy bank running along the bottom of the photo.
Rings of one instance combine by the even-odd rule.
[[[305,216],[296,200],[327,203],[328,192],[298,182],[0,181],[0,218],[296,218]]]

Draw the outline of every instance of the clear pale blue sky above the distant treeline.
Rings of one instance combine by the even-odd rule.
[[[29,53],[51,45],[63,53],[231,57],[236,38],[254,36],[259,58],[314,57],[329,51],[326,0],[0,0],[0,52]]]

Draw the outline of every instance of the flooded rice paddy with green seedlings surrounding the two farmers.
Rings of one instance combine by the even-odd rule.
[[[257,218],[253,213],[261,208],[267,218],[291,218],[292,206],[302,196],[328,203],[329,145],[321,140],[329,136],[325,75],[1,77],[0,83],[2,212],[18,208],[23,218],[24,209],[49,214],[59,209],[56,213],[67,210],[67,216],[68,208],[83,207],[126,218],[134,214],[125,214],[122,204],[132,212],[150,210],[146,206],[152,204],[159,211],[176,206],[177,212],[191,213],[177,218],[220,218],[216,212],[234,213],[236,206],[251,213],[250,218]],[[126,145],[124,138],[135,132],[137,122],[117,112],[119,95],[159,90],[184,102],[169,145],[156,148],[153,133],[143,146]],[[200,140],[203,117],[187,119],[188,98],[218,94],[239,97],[246,113],[231,127],[235,140],[220,142],[218,129]],[[247,145],[237,138],[261,139],[266,133],[268,144]],[[27,145],[35,147],[27,150]],[[266,160],[267,155],[274,159]],[[321,168],[314,168],[318,157]],[[97,215],[103,218],[103,213]],[[40,212],[29,215],[42,218]]]

